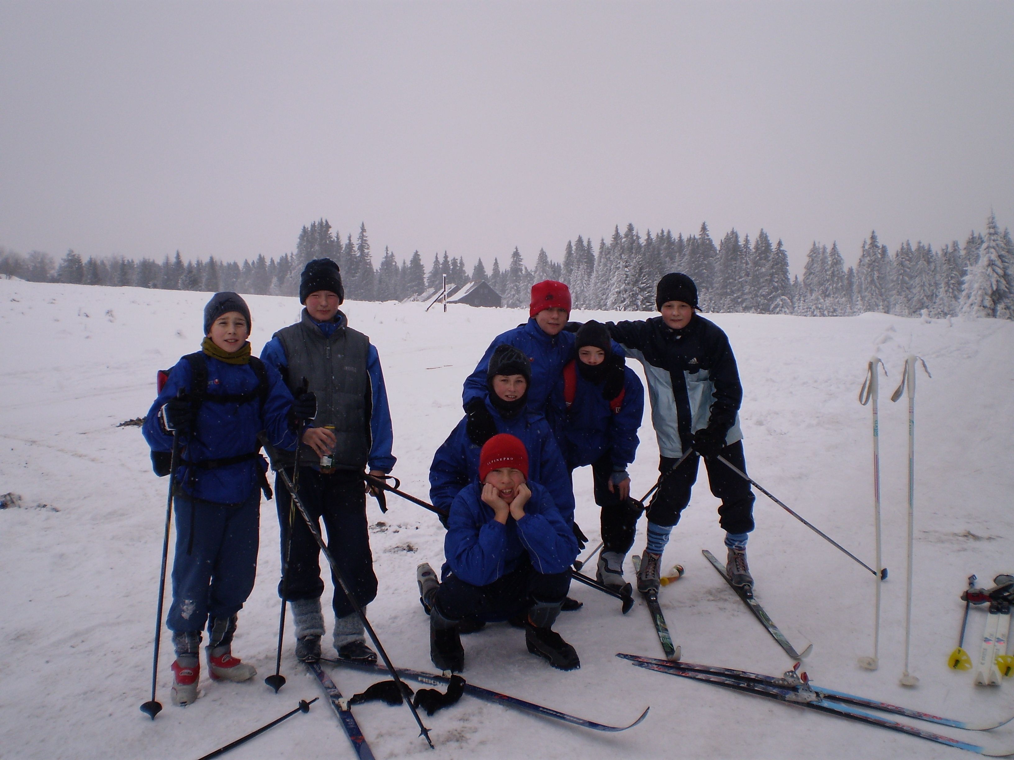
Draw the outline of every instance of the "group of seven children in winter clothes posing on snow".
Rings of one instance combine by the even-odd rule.
[[[235,293],[215,294],[205,308],[201,352],[172,368],[148,412],[143,431],[155,471],[167,474],[171,452],[178,452],[166,620],[177,704],[199,695],[205,627],[213,679],[256,674],[232,656],[231,641],[254,587],[262,491],[271,498],[262,445],[310,518],[322,519],[330,552],[359,605],[376,596],[363,475],[393,468],[391,421],[376,349],[348,325],[339,309],[344,295],[334,261],[307,263],[300,320],[276,332],[257,359],[246,339],[245,302]],[[626,366],[628,356],[644,366],[661,454],[639,591],[658,589],[662,551],[690,501],[701,456],[722,501],[730,578],[752,585],[745,546],[753,497],[716,458],[745,470],[735,359],[725,333],[697,314],[689,277],[662,278],[656,302],[659,317],[578,324],[569,321],[567,286],[536,283],[528,321],[498,335],[465,380],[464,416],[430,467],[430,498],[447,529],[445,561],[439,579],[428,563],[418,573],[431,658],[441,670],[463,669],[462,632],[502,620],[523,628],[528,651],[554,667],[580,667],[574,648],[553,630],[561,610],[581,606],[567,596],[571,567],[588,540],[574,519],[573,470],[591,466],[603,544],[596,576],[614,590],[627,585],[623,565],[645,509],[631,496],[628,473],[644,410],[644,388]],[[324,634],[319,551],[285,478],[275,485],[279,595],[292,608],[296,656],[314,661]],[[339,659],[376,662],[361,619],[334,586]]]

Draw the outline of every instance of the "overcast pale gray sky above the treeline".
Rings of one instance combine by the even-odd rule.
[[[0,245],[472,264],[1014,227],[1014,3],[0,0]]]

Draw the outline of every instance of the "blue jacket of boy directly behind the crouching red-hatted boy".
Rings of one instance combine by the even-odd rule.
[[[528,452],[528,477],[542,483],[554,505],[569,525],[574,521],[574,489],[570,472],[557,446],[546,417],[527,409],[506,420],[492,404],[487,393],[483,400],[493,414],[497,433],[509,433],[521,440]],[[466,431],[467,417],[457,424],[447,440],[433,455],[430,465],[430,501],[441,509],[450,509],[461,488],[479,475],[479,452]]]

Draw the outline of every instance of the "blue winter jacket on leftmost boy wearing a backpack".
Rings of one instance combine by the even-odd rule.
[[[205,355],[208,367],[208,395],[247,393],[257,388],[257,374],[248,364],[226,364]],[[258,434],[264,431],[269,442],[292,451],[296,436],[289,430],[286,415],[292,406],[292,394],[274,367],[266,364],[268,396],[261,405],[257,397],[245,403],[216,403],[206,399],[198,410],[194,433],[182,442],[182,465],[176,481],[188,496],[206,502],[239,504],[254,488],[260,487],[261,474],[268,464],[263,457],[227,464],[213,469],[188,466],[188,462],[225,459],[257,451]],[[183,388],[190,393],[193,373],[190,362],[180,359],[169,371],[169,379],[148,410],[142,432],[152,451],[171,451],[172,436],[162,432],[158,412]]]

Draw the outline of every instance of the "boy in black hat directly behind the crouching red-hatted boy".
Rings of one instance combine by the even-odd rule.
[[[492,425],[485,427],[465,415],[443,442],[430,465],[430,501],[442,510],[450,506],[461,488],[476,479],[479,453],[498,433],[509,433],[528,452],[530,477],[553,497],[561,517],[574,520],[574,491],[564,458],[553,431],[540,413],[531,410],[531,364],[513,346],[498,346],[486,373],[488,386],[482,401]]]

